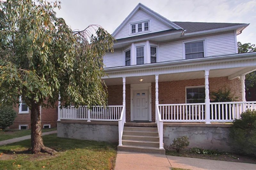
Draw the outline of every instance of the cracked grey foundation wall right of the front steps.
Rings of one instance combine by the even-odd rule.
[[[228,145],[229,127],[164,126],[164,146],[169,148],[177,137],[189,137],[189,148],[198,147],[218,151],[231,151]]]

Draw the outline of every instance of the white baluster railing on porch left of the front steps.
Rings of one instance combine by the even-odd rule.
[[[93,121],[118,121],[121,116],[123,106],[93,106],[90,110],[87,106],[78,108],[71,106],[59,110],[58,120],[87,120]]]

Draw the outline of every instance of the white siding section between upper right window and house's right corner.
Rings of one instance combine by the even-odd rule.
[[[207,56],[235,53],[236,41],[234,32],[207,37]]]

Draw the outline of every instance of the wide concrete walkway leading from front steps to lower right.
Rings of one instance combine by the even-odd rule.
[[[256,164],[227,162],[219,160],[184,158],[149,153],[117,152],[115,170],[125,169],[256,169]]]

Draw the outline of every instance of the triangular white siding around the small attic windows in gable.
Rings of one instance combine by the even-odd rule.
[[[158,19],[156,19],[152,15],[149,15],[148,13],[146,13],[143,10],[140,9],[132,16],[132,18],[116,34],[115,38],[120,39],[120,38],[126,38],[126,37],[129,37],[129,36],[133,36],[132,34],[130,34],[131,24],[144,22],[144,21],[149,21],[150,32],[147,32],[147,33],[154,33],[154,32],[158,32],[158,31],[164,31],[164,30],[172,29],[172,27],[167,26],[166,24],[159,21]],[[141,33],[143,33],[143,32],[141,32]],[[136,35],[138,35],[138,34],[136,34]]]

